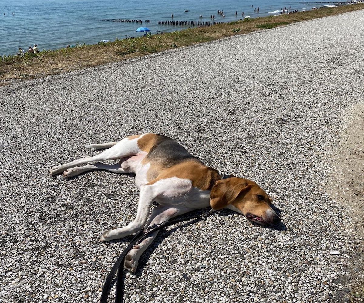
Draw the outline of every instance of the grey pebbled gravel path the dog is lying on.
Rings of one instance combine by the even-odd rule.
[[[92,154],[84,144],[143,132],[256,181],[288,230],[230,211],[168,228],[127,275],[125,302],[347,302],[359,239],[325,186],[343,112],[364,97],[363,20],[351,12],[0,88],[0,302],[97,302],[126,246],[99,235],[133,218],[134,179],[48,170]]]

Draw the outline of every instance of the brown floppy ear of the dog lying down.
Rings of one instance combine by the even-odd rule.
[[[211,208],[221,210],[240,194],[245,194],[250,187],[244,179],[236,177],[217,181],[210,192]]]

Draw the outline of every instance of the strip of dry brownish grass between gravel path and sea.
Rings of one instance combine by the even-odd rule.
[[[259,29],[284,26],[299,21],[337,15],[349,11],[364,9],[364,3],[345,5],[337,8],[284,14],[281,16],[245,19],[211,27],[185,29],[160,35],[148,35],[135,39],[115,40],[108,43],[78,45],[75,48],[63,48],[54,51],[42,51],[25,57],[0,57],[0,85],[6,85],[17,79],[33,79],[64,71],[93,67],[96,65],[118,62],[132,57],[167,49],[184,47],[224,37],[250,33]]]

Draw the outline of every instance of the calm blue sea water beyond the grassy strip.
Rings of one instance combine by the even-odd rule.
[[[267,16],[274,15],[268,12],[289,6],[302,11],[315,5],[285,0],[0,0],[0,55],[14,54],[19,47],[26,50],[35,43],[39,49],[55,49],[67,44],[123,39],[124,35],[137,37],[142,35],[135,32],[139,26],[150,28],[152,34],[182,29],[157,24],[171,20],[172,13],[173,20],[210,21],[210,15],[215,15],[215,21],[232,21],[241,19],[243,11],[244,16]],[[259,13],[254,13],[258,7]],[[218,10],[223,10],[225,18],[217,14]],[[96,20],[106,18],[149,19],[151,23]]]

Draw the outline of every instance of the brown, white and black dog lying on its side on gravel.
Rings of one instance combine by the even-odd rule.
[[[228,176],[203,164],[175,140],[155,133],[126,137],[121,141],[90,144],[88,148],[106,149],[102,153],[52,167],[50,174],[63,173],[70,178],[90,170],[107,170],[118,174],[134,173],[139,188],[138,210],[127,226],[103,232],[100,241],[119,239],[147,226],[165,222],[175,216],[211,206],[229,208],[250,221],[269,226],[280,221],[271,208],[272,199],[260,186],[248,179]],[[119,160],[117,164],[89,162]],[[157,232],[135,245],[127,254],[124,266],[135,272],[138,260],[157,236]]]

